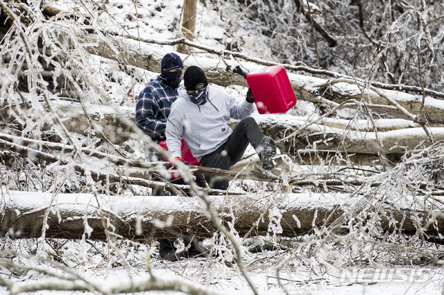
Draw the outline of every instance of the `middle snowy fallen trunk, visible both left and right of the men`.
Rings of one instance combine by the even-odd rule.
[[[87,132],[89,125],[79,103],[60,101],[54,105],[64,118],[63,122],[69,131],[79,134]],[[91,118],[95,118],[103,126],[101,132],[105,132],[112,141],[120,143],[128,140],[133,134],[122,118],[125,116],[132,120],[134,110],[128,107],[103,107],[93,104],[85,104],[85,107]],[[376,120],[375,127],[379,130],[376,135],[373,125],[364,121],[355,123],[350,120],[324,118],[310,123],[306,118],[285,115],[253,114],[253,117],[264,134],[278,141],[281,152],[292,156],[307,147],[314,149],[314,145],[317,150],[339,150],[368,154],[371,157],[377,154],[402,154],[406,150],[414,150],[420,144],[423,147],[430,145],[424,130],[411,120]],[[430,131],[435,141],[444,139],[442,127],[431,127]],[[289,136],[293,133],[294,136]]]

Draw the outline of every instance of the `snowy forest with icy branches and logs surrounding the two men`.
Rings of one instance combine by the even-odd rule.
[[[0,8],[0,292],[443,294],[441,1]],[[253,115],[278,142],[272,175],[249,149],[227,193],[198,190],[197,168],[181,167],[190,186],[174,189],[196,196],[151,197],[171,184],[150,172],[169,167],[144,163],[135,102],[177,51],[239,100],[234,66],[286,67],[296,107]],[[156,238],[190,233],[211,258],[159,258]],[[350,283],[344,269],[427,280]]]

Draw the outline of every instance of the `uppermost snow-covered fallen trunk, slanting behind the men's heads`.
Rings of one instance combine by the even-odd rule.
[[[111,60],[117,60],[123,64],[137,66],[148,71],[160,73],[160,61],[164,55],[163,49],[146,44],[143,40],[141,40],[142,42],[137,42],[133,39],[121,37],[108,39],[108,42],[105,43],[103,40],[92,40],[91,38],[94,37],[94,35],[89,35],[88,37],[89,39],[87,43],[96,44],[95,46],[86,46],[89,53],[101,55],[102,57]],[[165,42],[156,42],[160,45],[176,44],[175,42],[168,40]],[[141,47],[139,47],[139,45]],[[228,58],[225,59],[225,54],[223,54],[222,51],[219,52],[219,50],[214,48],[203,49],[209,53],[215,53],[216,55],[221,55],[223,57],[208,58],[194,55],[193,58],[186,59],[185,57],[187,57],[187,55],[183,55],[182,59],[185,60],[185,66],[191,64],[200,66],[205,71],[209,82],[223,87],[232,84],[244,87],[247,86],[246,80],[242,76],[232,73],[234,63]],[[257,60],[257,62],[261,62],[261,60]],[[241,62],[241,65],[248,71],[264,66],[254,62]],[[327,104],[335,106],[345,100],[355,99],[357,102],[360,102],[361,98],[364,98],[364,101],[368,104],[368,109],[379,114],[388,114],[398,118],[411,119],[410,116],[406,116],[405,112],[400,111],[400,109],[395,107],[392,102],[389,102],[387,98],[384,98],[384,96],[387,96],[395,103],[398,103],[400,107],[409,111],[413,116],[420,114],[424,115],[429,124],[444,123],[444,101],[432,98],[431,96],[425,96],[424,108],[421,111],[421,94],[382,90],[375,87],[370,87],[370,89],[367,88],[363,93],[361,91],[363,88],[362,85],[358,86],[355,80],[348,78],[327,80],[307,75],[297,75],[294,73],[289,73],[289,78],[298,100],[307,100],[315,103],[327,102]],[[353,107],[348,104],[345,107],[356,108],[357,105]]]

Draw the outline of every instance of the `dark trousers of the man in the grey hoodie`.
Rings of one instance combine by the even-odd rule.
[[[248,146],[253,145],[260,157],[260,149],[262,138],[265,135],[257,125],[254,118],[247,117],[234,127],[234,130],[225,143],[211,154],[206,154],[200,159],[200,165],[203,167],[219,168],[230,170],[230,167],[239,162]],[[210,188],[226,190],[228,188],[228,180],[215,180],[212,175],[205,175]]]

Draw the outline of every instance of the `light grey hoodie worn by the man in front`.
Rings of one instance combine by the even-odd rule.
[[[182,136],[198,161],[217,150],[232,133],[228,127],[230,118],[241,120],[253,113],[253,103],[238,102],[224,91],[209,89],[204,105],[191,102],[184,88],[178,91],[178,99],[171,105],[167,120],[167,146],[172,157],[182,157],[180,137]]]

